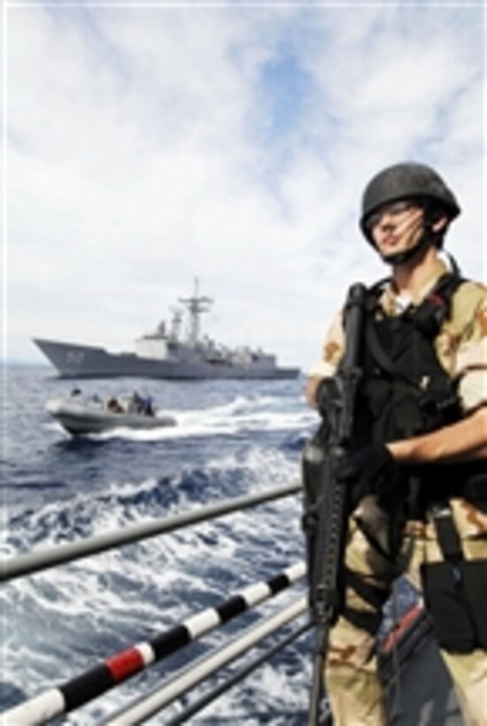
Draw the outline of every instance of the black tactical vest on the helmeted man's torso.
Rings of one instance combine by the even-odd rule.
[[[435,340],[451,315],[458,274],[444,274],[420,305],[387,316],[379,305],[383,283],[370,290],[364,329],[362,377],[354,446],[421,436],[460,421],[457,382],[437,358]],[[468,483],[485,480],[485,463],[431,464],[406,469],[416,483],[414,511],[424,512],[439,497],[466,496]],[[484,496],[484,495],[483,495]]]

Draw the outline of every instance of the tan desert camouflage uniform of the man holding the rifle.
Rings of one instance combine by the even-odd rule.
[[[435,275],[425,282],[417,305],[431,290],[445,267],[438,260]],[[393,290],[384,290],[380,300],[386,315],[400,310]],[[321,361],[310,372],[312,380],[334,375],[344,346],[341,314],[336,316],[323,349]],[[459,393],[464,413],[487,404],[487,290],[483,285],[467,282],[452,297],[452,315],[435,339],[437,357],[448,375],[459,379]],[[487,559],[487,514],[464,499],[452,499],[452,514],[463,546],[464,556]],[[388,514],[368,496],[352,513],[349,523],[345,564],[359,575],[363,583],[377,591],[390,592],[394,579],[390,560],[369,544],[364,536],[373,531],[387,548]],[[414,552],[406,571],[411,581],[421,587],[419,566],[442,560],[437,534],[430,521],[408,521],[406,537],[414,534]],[[381,606],[372,605],[347,586],[346,606],[362,613],[377,615]],[[487,654],[483,650],[457,654],[441,652],[450,671],[467,724],[487,724]],[[375,637],[341,616],[331,630],[325,680],[337,726],[386,723],[383,689],[376,672]]]

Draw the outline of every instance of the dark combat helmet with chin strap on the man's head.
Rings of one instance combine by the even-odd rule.
[[[360,229],[369,243],[374,245],[371,230],[367,228],[370,214],[383,205],[411,198],[424,205],[425,212],[430,208],[441,209],[449,221],[460,214],[460,205],[452,190],[430,166],[413,161],[388,166],[368,182],[362,197]],[[443,235],[431,239],[429,234],[429,241],[438,247],[441,247],[442,238]]]

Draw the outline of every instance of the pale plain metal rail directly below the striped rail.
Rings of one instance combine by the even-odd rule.
[[[152,691],[146,698],[138,700],[134,705],[125,709],[123,713],[112,716],[112,718],[104,722],[104,726],[128,726],[129,724],[146,721],[154,714],[158,714],[162,708],[168,706],[175,699],[180,698],[191,688],[204,681],[205,678],[213,676],[213,673],[217,670],[227,666],[232,660],[236,660],[266,637],[300,615],[305,614],[307,609],[306,597],[295,600],[279,613],[267,618],[264,622],[259,622],[253,628],[245,630],[242,635],[236,637],[220,650],[207,653],[200,660],[191,663],[188,668],[176,674],[174,679],[163,684],[156,691]]]

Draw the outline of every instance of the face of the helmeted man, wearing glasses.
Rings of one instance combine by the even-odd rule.
[[[384,258],[405,252],[420,239],[424,212],[412,201],[383,205],[367,219],[377,250]]]

